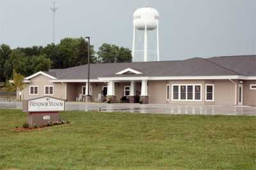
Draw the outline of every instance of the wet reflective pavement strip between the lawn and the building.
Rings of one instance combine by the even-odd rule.
[[[0,108],[21,109],[19,102],[0,102]],[[131,113],[186,114],[186,115],[252,115],[256,107],[250,106],[193,106],[181,104],[107,104],[107,103],[66,103],[66,110],[79,111],[121,111]]]

